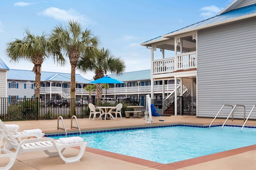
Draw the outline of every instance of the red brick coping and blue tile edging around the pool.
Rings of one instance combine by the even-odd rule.
[[[220,127],[223,124],[220,123],[215,123],[213,125],[211,125],[211,127]],[[148,128],[161,128],[161,127],[175,127],[175,126],[184,126],[184,127],[199,127],[199,128],[209,128],[209,124],[198,124],[198,123],[181,123],[181,122],[176,122],[176,123],[168,123],[168,124],[147,124],[147,125],[141,125],[141,126],[131,126],[131,127],[108,127],[108,128],[98,128],[98,129],[91,129],[91,130],[82,130],[82,134],[89,134],[89,133],[105,133],[105,132],[115,132],[115,131],[123,131],[123,130],[139,130],[139,129],[148,129]],[[242,127],[242,125],[239,124],[225,124],[225,127]],[[244,126],[247,128],[256,128],[256,126]],[[102,129],[102,130],[100,130]],[[56,133],[56,131],[55,131]],[[47,133],[45,136],[47,137],[53,137],[53,136],[65,136],[65,133],[59,133],[54,134],[53,132],[51,133]],[[68,135],[79,135],[79,132],[76,131],[72,131],[69,132]],[[110,158],[115,158],[118,160],[122,160],[122,161],[127,161],[130,163],[134,163],[134,164],[139,164],[139,165],[143,165],[146,167],[152,167],[158,170],[177,170],[180,168],[184,168],[184,167],[188,167],[188,166],[192,166],[192,165],[196,165],[196,164],[200,164],[200,163],[204,163],[207,161],[213,161],[216,159],[220,159],[220,158],[225,158],[228,156],[234,156],[240,153],[245,153],[251,150],[256,150],[256,144],[255,145],[251,145],[251,146],[247,146],[247,147],[241,147],[241,148],[237,148],[237,149],[233,149],[233,150],[227,150],[227,151],[223,151],[220,153],[214,153],[214,154],[210,154],[210,155],[206,155],[206,156],[200,156],[200,157],[196,157],[196,158],[191,158],[191,159],[187,159],[184,161],[178,161],[178,162],[173,162],[173,163],[169,163],[169,164],[162,164],[159,162],[154,162],[154,161],[149,161],[149,160],[145,160],[142,158],[135,158],[132,156],[126,156],[126,155],[122,155],[119,153],[112,153],[112,152],[108,152],[108,151],[104,151],[104,150],[99,150],[99,149],[95,149],[95,148],[91,148],[91,147],[86,147],[86,152],[90,152],[90,153],[94,153],[94,154],[98,154],[101,156],[107,156]]]

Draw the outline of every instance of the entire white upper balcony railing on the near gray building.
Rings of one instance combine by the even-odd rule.
[[[187,52],[173,58],[163,58],[153,61],[153,74],[171,73],[177,70],[197,68],[196,52]]]

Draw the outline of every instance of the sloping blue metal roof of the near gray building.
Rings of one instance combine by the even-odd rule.
[[[206,26],[206,25],[209,25],[209,24],[218,23],[218,22],[221,22],[221,21],[226,21],[226,20],[230,20],[230,19],[234,19],[234,18],[237,18],[237,17],[242,17],[242,16],[245,16],[245,15],[254,14],[254,13],[256,13],[256,4],[253,4],[253,5],[250,5],[250,6],[244,6],[242,8],[238,8],[238,9],[230,10],[229,12],[226,12],[226,13],[223,13],[223,14],[220,14],[220,15],[216,15],[215,17],[211,17],[211,18],[208,18],[206,20],[200,21],[198,23],[194,23],[190,26],[186,26],[182,29],[178,29],[178,30],[170,32],[168,34],[180,32],[180,31],[184,31],[184,30],[189,30],[189,29],[200,27],[200,26]],[[168,35],[168,34],[165,34],[165,35]],[[156,37],[152,40],[145,41],[144,43],[150,42],[150,41],[153,41],[153,40],[158,40],[158,39],[161,39],[161,37]]]

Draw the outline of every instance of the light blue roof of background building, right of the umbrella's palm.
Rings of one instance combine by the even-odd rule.
[[[125,72],[122,75],[107,75],[111,78],[114,78],[119,81],[143,81],[143,80],[150,80],[151,78],[151,70],[142,70],[142,71],[135,71],[135,72]],[[93,81],[93,79],[92,79]]]

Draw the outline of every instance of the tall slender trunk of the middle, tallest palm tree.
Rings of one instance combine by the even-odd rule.
[[[75,115],[75,68],[76,66],[71,65],[71,80],[70,80],[70,117]]]

